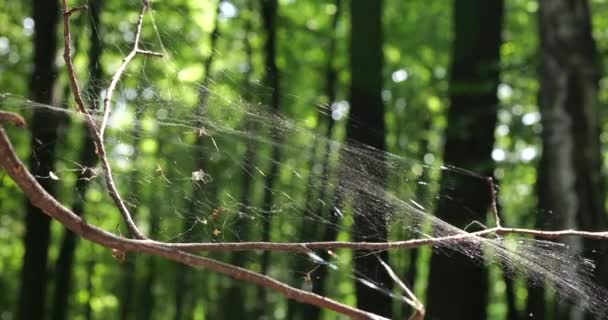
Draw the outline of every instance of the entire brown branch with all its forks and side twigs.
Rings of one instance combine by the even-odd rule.
[[[139,231],[137,225],[132,219],[129,210],[127,209],[124,201],[122,200],[116,185],[114,183],[112,168],[106,156],[104,146],[104,133],[107,127],[108,119],[111,113],[111,101],[113,93],[116,89],[118,82],[124,74],[128,64],[135,58],[136,55],[148,55],[154,57],[162,57],[162,54],[153,51],[142,50],[139,48],[143,18],[146,10],[148,9],[149,2],[144,0],[144,4],[139,12],[138,21],[136,24],[135,40],[132,50],[123,59],[121,65],[114,73],[110,85],[106,90],[106,94],[103,100],[103,119],[100,126],[97,126],[94,118],[86,107],[84,99],[82,97],[81,89],[78,84],[76,73],[74,71],[72,58],[71,58],[71,35],[70,35],[70,16],[80,10],[86,9],[86,6],[76,6],[71,9],[67,6],[67,0],[62,0],[63,3],[63,16],[64,16],[64,60],[66,62],[66,68],[70,81],[70,87],[74,95],[74,100],[78,111],[84,114],[88,128],[92,133],[93,141],[96,146],[97,154],[102,163],[104,170],[104,177],[106,180],[108,193],[113,199],[114,203],[118,207],[129,232],[132,237],[136,238],[127,239],[121,236],[116,236],[108,233],[96,226],[87,224],[80,217],[75,215],[69,209],[61,205],[55,198],[48,194],[36,181],[36,179],[30,174],[25,168],[21,161],[16,156],[14,149],[6,136],[4,129],[0,127],[0,166],[3,167],[11,178],[17,183],[19,188],[25,193],[30,199],[32,204],[40,208],[43,212],[49,216],[55,218],[61,222],[67,229],[74,233],[82,236],[85,239],[91,240],[102,246],[131,252],[148,253],[156,256],[160,256],[169,260],[177,261],[186,265],[194,267],[206,267],[210,270],[228,275],[235,279],[251,282],[259,286],[275,290],[289,299],[294,299],[303,303],[315,305],[320,308],[327,308],[334,310],[340,314],[357,318],[357,319],[381,319],[374,314],[359,310],[357,308],[336,302],[329,298],[316,295],[311,292],[299,290],[288,286],[287,284],[280,282],[276,279],[268,277],[263,274],[253,272],[244,268],[240,268],[234,265],[226,264],[214,259],[193,255],[193,252],[199,251],[239,251],[239,250],[268,250],[268,251],[279,251],[279,252],[296,252],[296,253],[307,253],[314,249],[338,249],[338,248],[349,248],[349,249],[364,249],[364,250],[389,250],[397,248],[415,248],[420,246],[429,246],[435,244],[446,244],[454,242],[464,242],[470,240],[480,240],[483,237],[491,235],[507,235],[507,234],[520,234],[520,235],[531,235],[538,238],[545,239],[556,239],[567,236],[580,236],[591,239],[608,239],[608,232],[588,232],[578,230],[557,230],[557,231],[541,231],[534,229],[522,229],[522,228],[505,228],[502,226],[502,222],[497,209],[497,190],[495,188],[493,179],[487,178],[490,191],[491,191],[491,209],[495,218],[496,227],[484,229],[477,232],[465,232],[461,231],[453,235],[445,237],[434,237],[425,239],[413,239],[406,241],[394,241],[394,242],[305,242],[305,243],[275,243],[275,242],[238,242],[238,243],[166,243],[148,240]],[[1,122],[12,122],[16,125],[24,125],[23,119],[12,113],[0,111],[0,124]],[[416,310],[410,319],[419,320],[424,317],[424,306],[415,297],[413,292],[401,281],[392,269],[382,260],[380,263],[387,270],[393,281],[395,281],[399,287],[404,291],[404,301],[410,304]]]

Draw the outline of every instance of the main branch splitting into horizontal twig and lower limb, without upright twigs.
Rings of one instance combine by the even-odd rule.
[[[5,113],[6,114],[6,113]],[[9,119],[10,120],[10,119]],[[55,198],[48,194],[36,179],[27,171],[23,163],[17,158],[15,151],[6,136],[4,129],[0,127],[0,166],[3,167],[17,183],[19,188],[30,199],[32,204],[40,208],[49,216],[57,219],[66,228],[85,239],[91,240],[102,246],[131,252],[148,253],[161,256],[173,261],[178,261],[195,267],[206,267],[211,270],[226,274],[235,279],[255,283],[257,285],[275,290],[303,303],[308,303],[321,308],[328,308],[338,313],[358,319],[379,319],[373,314],[355,309],[353,307],[335,302],[331,299],[290,287],[280,281],[268,276],[252,272],[247,269],[225,264],[213,259],[193,255],[193,251],[237,251],[237,250],[271,250],[284,252],[306,253],[311,249],[366,249],[366,250],[388,250],[395,248],[415,248],[423,245],[445,244],[446,242],[466,241],[469,238],[478,238],[488,235],[523,234],[545,239],[556,239],[568,236],[579,236],[590,239],[608,239],[608,232],[589,232],[578,230],[541,231],[523,228],[495,227],[477,232],[455,234],[446,237],[414,239],[407,241],[365,243],[365,242],[308,242],[308,243],[265,243],[265,242],[242,242],[242,243],[164,243],[153,240],[131,240],[117,237],[102,229],[87,224],[80,217],[61,205]],[[411,298],[410,298],[411,299]],[[416,314],[415,314],[416,315]],[[413,316],[415,316],[413,315]],[[420,319],[419,317],[413,319]]]

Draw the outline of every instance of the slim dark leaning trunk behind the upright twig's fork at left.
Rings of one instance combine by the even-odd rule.
[[[90,25],[90,47],[89,47],[89,74],[90,79],[87,85],[90,99],[90,106],[95,108],[100,94],[100,81],[103,73],[100,58],[101,58],[101,39],[98,37],[97,30],[100,28],[99,12],[101,10],[101,1],[93,0],[89,2],[89,17]],[[72,208],[76,214],[84,214],[84,206],[86,192],[89,186],[89,179],[92,177],[92,168],[97,163],[97,155],[95,154],[95,145],[90,135],[90,131],[86,124],[82,126],[84,134],[80,151],[80,160],[78,163],[85,169],[80,173],[79,179],[76,182],[76,197]],[[74,272],[74,253],[77,245],[76,235],[66,230],[59,249],[59,257],[56,263],[55,275],[55,293],[53,295],[53,320],[67,319],[68,297],[72,289],[72,275]]]

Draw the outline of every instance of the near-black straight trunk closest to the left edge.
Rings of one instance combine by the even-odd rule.
[[[34,70],[30,82],[33,101],[50,104],[57,75],[56,27],[59,3],[56,0],[34,0]],[[59,116],[44,108],[34,109],[31,120],[32,155],[30,170],[37,177],[49,177],[54,170]],[[38,178],[51,194],[55,184],[50,178]],[[27,202],[25,215],[25,256],[21,268],[21,289],[17,319],[44,319],[46,314],[47,262],[50,241],[50,219]]]

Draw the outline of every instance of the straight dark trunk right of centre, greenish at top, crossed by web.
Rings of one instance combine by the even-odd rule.
[[[369,145],[378,150],[385,149],[384,106],[382,104],[382,1],[351,1],[350,38],[350,119],[347,125],[348,141]],[[354,186],[353,194],[353,238],[355,241],[380,242],[387,239],[388,212],[382,201],[380,190],[386,185],[386,168],[379,161],[369,163],[352,154],[352,162],[362,167],[363,174],[372,184]],[[347,160],[350,161],[350,160]],[[344,165],[349,163],[344,162]],[[355,252],[355,269],[361,277],[379,283],[383,288],[392,287],[392,281],[378,262],[388,263],[386,251],[370,254]],[[356,281],[357,307],[378,315],[391,317],[392,300],[385,294]]]

